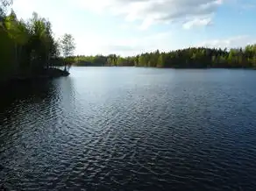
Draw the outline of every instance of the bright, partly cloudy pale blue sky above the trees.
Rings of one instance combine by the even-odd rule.
[[[256,43],[255,0],[14,0],[18,18],[48,18],[75,54],[131,56],[189,46]]]

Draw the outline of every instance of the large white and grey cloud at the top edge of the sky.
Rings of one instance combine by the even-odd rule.
[[[123,15],[128,22],[139,20],[142,29],[156,23],[187,21],[208,25],[222,0],[76,0],[91,11]],[[198,22],[200,21],[200,22]],[[205,22],[207,21],[207,22]],[[191,25],[194,26],[194,25]],[[187,27],[188,28],[188,27]]]

